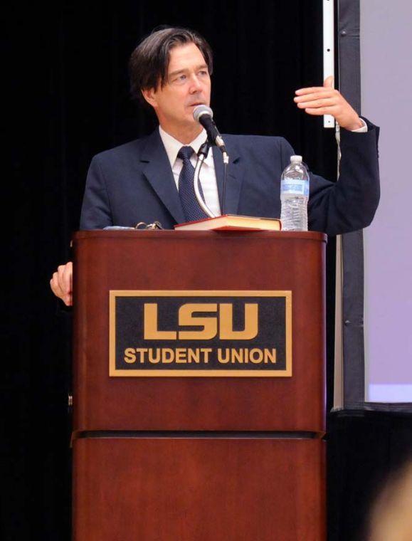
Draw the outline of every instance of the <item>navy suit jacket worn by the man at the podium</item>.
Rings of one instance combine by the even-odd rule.
[[[379,128],[367,133],[341,130],[339,181],[310,174],[309,229],[329,235],[370,224],[379,202]],[[295,154],[282,137],[224,135],[230,162],[226,214],[280,216],[280,176]],[[213,148],[222,204],[223,163]],[[159,130],[148,137],[97,154],[83,199],[80,229],[135,226],[160,221],[164,229],[184,222],[179,194]]]

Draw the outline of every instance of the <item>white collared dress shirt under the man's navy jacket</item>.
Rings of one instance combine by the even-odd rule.
[[[176,188],[179,190],[179,175],[181,168],[183,167],[183,161],[177,157],[177,154],[181,147],[192,147],[194,152],[199,152],[199,148],[206,141],[206,130],[202,130],[195,140],[189,143],[189,145],[183,145],[180,141],[171,137],[165,132],[162,127],[159,126],[159,133],[162,139],[164,148],[166,149],[167,157],[169,158],[171,171],[173,172],[174,182],[176,182]],[[196,154],[192,154],[191,163],[193,167],[196,166]],[[204,200],[208,209],[210,209],[215,216],[221,215],[221,206],[218,196],[218,185],[216,182],[215,163],[213,162],[213,152],[209,149],[208,155],[201,166],[200,172],[200,184],[204,194]]]

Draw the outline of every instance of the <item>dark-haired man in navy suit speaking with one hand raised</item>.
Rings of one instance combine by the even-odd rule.
[[[186,221],[181,175],[187,171],[187,160],[195,163],[195,153],[206,140],[193,111],[210,103],[212,67],[208,43],[186,29],[154,32],[135,49],[130,60],[132,93],[153,107],[159,129],[93,158],[80,229],[134,226],[139,221],[160,221],[164,228],[172,228]],[[342,128],[339,182],[310,177],[310,229],[334,235],[369,225],[379,201],[379,130],[359,118],[332,88],[332,78],[322,87],[297,90],[294,99],[310,115],[333,115]],[[228,135],[224,139],[231,159],[225,212],[280,216],[280,182],[275,179],[280,179],[294,154],[290,145],[281,137]],[[186,158],[188,147],[194,154]],[[222,207],[222,167],[218,150],[209,152],[201,184],[214,214],[220,214]],[[72,265],[67,263],[51,279],[53,293],[66,305],[72,302],[71,276]]]

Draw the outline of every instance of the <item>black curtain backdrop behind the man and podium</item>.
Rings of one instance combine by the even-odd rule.
[[[236,7],[235,7],[236,6]],[[215,53],[212,107],[221,132],[283,135],[335,179],[336,145],[294,91],[322,83],[322,1],[77,1],[3,12],[8,98],[2,122],[4,335],[0,536],[70,538],[70,314],[48,281],[70,258],[85,175],[96,152],[147,133],[128,95],[127,60],[160,24],[203,33]],[[371,119],[373,120],[373,119]],[[328,245],[332,382],[334,239]],[[331,406],[332,394],[329,394]],[[376,487],[411,446],[411,421],[389,414],[329,418],[330,539],[361,539]]]

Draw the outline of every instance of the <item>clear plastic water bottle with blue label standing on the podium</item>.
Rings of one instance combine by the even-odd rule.
[[[291,156],[280,180],[282,231],[307,231],[309,173],[302,156]]]

